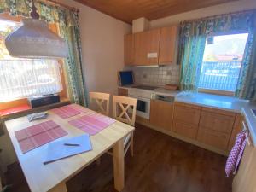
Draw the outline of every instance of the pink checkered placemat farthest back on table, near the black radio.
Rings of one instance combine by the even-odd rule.
[[[87,108],[82,108],[77,104],[70,104],[70,105],[63,106],[61,108],[52,109],[50,111],[57,114],[62,119],[67,119],[80,113],[89,112],[90,110]]]

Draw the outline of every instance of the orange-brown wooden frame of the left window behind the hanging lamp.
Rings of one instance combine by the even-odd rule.
[[[15,21],[15,22],[21,22],[23,17],[21,16],[11,16],[8,13],[3,13],[0,14],[0,19],[1,20],[10,20],[10,21]],[[59,27],[57,26],[57,24],[52,23],[49,24],[49,29],[52,32],[55,32],[59,35]],[[58,95],[61,97],[61,101],[67,101],[68,100],[68,94],[67,94],[67,83],[66,83],[66,79],[65,79],[65,74],[63,72],[63,65],[64,65],[64,61],[63,60],[59,60],[58,61],[60,63],[61,66],[61,84],[62,84],[62,90],[61,92],[58,93]],[[27,98],[20,98],[20,99],[16,99],[13,101],[9,101],[9,102],[0,102],[0,110],[4,110],[4,109],[8,109],[8,108],[15,108],[18,107],[20,105],[30,105],[30,103],[28,102]]]

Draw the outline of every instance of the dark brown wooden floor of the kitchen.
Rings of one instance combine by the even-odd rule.
[[[125,157],[123,192],[229,192],[226,157],[183,143],[143,125],[136,125],[135,155]],[[9,166],[10,191],[29,192],[20,166]],[[40,175],[38,175],[40,177]],[[113,192],[113,160],[102,156],[102,163],[86,167],[67,183],[68,192]]]

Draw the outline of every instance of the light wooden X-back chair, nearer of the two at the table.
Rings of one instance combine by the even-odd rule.
[[[134,126],[136,118],[137,99],[127,96],[113,96],[113,118],[125,124]],[[133,156],[133,132],[124,139],[125,154],[131,149]]]

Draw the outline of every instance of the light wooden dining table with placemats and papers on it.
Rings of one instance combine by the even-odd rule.
[[[126,135],[131,133],[131,131],[134,131],[134,127],[115,121],[112,125],[109,125],[106,129],[98,132],[96,135],[90,136],[92,145],[91,151],[62,160],[56,160],[55,162],[44,165],[49,143],[23,154],[15,137],[15,131],[48,120],[53,120],[56,124],[61,125],[61,127],[68,133],[67,136],[61,137],[55,141],[84,134],[84,131],[81,131],[68,123],[68,121],[72,119],[77,119],[78,117],[83,116],[83,113],[67,119],[61,119],[61,117],[50,110],[48,111],[48,114],[47,119],[35,120],[32,122],[29,122],[26,116],[5,122],[9,138],[15,148],[15,153],[31,191],[67,192],[67,180],[82,171],[84,167],[89,166],[102,154],[108,152],[110,148],[113,148],[114,188],[121,191],[125,185],[123,139]]]

